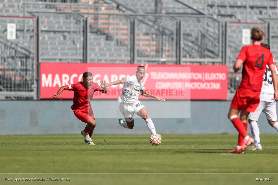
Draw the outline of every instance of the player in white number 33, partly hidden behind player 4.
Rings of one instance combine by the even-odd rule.
[[[270,50],[270,46],[268,44],[262,43],[261,46]],[[276,66],[275,70],[276,74],[278,74]],[[263,76],[263,85],[260,94],[260,104],[255,110],[255,112],[250,112],[248,116],[251,133],[255,140],[255,146],[253,146],[249,150],[263,150],[260,143],[260,130],[257,123],[259,116],[262,112],[265,113],[269,125],[271,125],[278,132],[276,102],[273,100],[274,88],[272,83],[272,75],[267,65],[265,74]]]

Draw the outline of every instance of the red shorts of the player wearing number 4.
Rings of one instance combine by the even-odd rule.
[[[233,97],[231,107],[238,110],[254,112],[260,103],[260,91],[246,88],[238,88]]]

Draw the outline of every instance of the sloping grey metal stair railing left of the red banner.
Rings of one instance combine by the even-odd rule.
[[[36,99],[34,54],[0,36],[0,96]]]

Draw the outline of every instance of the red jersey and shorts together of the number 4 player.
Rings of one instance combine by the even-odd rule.
[[[261,45],[249,45],[242,48],[237,59],[243,61],[242,81],[233,98],[231,107],[254,112],[260,102],[262,78],[266,65],[274,64],[270,50]]]

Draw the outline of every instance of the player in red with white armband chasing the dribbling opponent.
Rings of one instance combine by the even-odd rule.
[[[63,90],[74,91],[73,96],[73,105],[71,109],[73,110],[74,115],[84,123],[87,123],[85,129],[81,131],[81,134],[84,136],[84,142],[89,145],[95,145],[92,142],[92,135],[94,128],[96,126],[96,120],[90,101],[94,95],[95,91],[100,91],[106,93],[107,90],[104,86],[105,81],[101,80],[101,86],[92,81],[92,73],[84,72],[83,73],[83,82],[78,82],[76,84],[69,84],[62,86],[57,94],[53,94],[53,98],[58,98]]]

